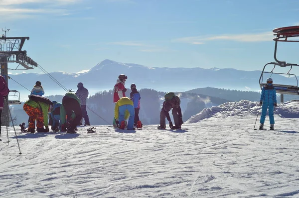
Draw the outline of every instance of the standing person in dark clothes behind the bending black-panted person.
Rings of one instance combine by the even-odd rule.
[[[88,90],[83,86],[82,82],[79,82],[77,87],[78,90],[76,92],[76,96],[80,99],[81,102],[81,111],[85,122],[84,125],[90,126],[89,117],[86,111],[86,100],[88,97]],[[82,121],[80,122],[80,125],[82,125]]]

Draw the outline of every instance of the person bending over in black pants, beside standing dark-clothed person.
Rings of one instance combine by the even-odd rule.
[[[72,118],[73,113],[75,114],[74,118]],[[62,104],[60,106],[61,131],[77,133],[75,128],[80,123],[81,118],[80,99],[74,93],[66,93],[62,98]]]

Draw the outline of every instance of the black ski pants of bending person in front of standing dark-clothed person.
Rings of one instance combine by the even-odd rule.
[[[74,98],[63,98],[62,105],[67,115],[67,122],[70,123],[70,129],[74,130],[82,118],[80,103]],[[73,112],[75,113],[75,118],[72,120]]]

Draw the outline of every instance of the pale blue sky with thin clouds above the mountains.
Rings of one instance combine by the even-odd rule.
[[[0,17],[48,72],[104,59],[261,70],[274,61],[272,30],[299,25],[299,0],[0,0]],[[299,63],[299,43],[279,44],[279,59]]]

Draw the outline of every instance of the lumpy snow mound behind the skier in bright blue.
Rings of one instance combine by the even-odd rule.
[[[191,116],[185,123],[196,123],[208,118],[221,118],[237,115],[251,115],[259,111],[259,102],[251,102],[249,100],[241,100],[238,102],[227,102],[216,107],[205,108],[200,113]],[[262,110],[260,109],[259,114]],[[278,104],[274,114],[278,114],[283,118],[299,118],[299,101],[288,101]]]

